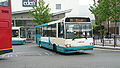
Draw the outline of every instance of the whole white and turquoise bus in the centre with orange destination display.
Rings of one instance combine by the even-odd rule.
[[[92,23],[88,17],[64,19],[37,25],[36,43],[61,53],[93,50]]]

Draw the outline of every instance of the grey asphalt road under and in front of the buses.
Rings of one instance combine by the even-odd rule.
[[[32,43],[13,45],[13,49],[1,56],[0,68],[120,68],[119,50],[60,54]]]

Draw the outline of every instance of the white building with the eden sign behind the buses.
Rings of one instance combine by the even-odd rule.
[[[34,5],[33,1],[39,0],[12,0],[12,22],[13,26],[24,26],[27,30],[27,39],[34,39],[34,19],[28,11]],[[94,16],[89,11],[89,5],[80,5],[80,0],[44,0],[49,4],[52,20],[59,20],[65,16],[87,16],[94,20]],[[15,4],[16,3],[16,4]]]

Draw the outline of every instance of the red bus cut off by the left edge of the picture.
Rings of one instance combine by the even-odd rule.
[[[11,0],[0,0],[0,55],[12,52]]]

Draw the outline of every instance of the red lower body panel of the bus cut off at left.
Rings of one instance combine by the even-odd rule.
[[[3,54],[12,51],[12,31],[10,21],[0,21],[0,24],[0,54]]]

